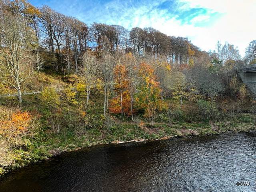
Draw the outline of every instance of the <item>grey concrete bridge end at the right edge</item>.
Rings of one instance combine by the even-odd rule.
[[[244,68],[238,69],[238,75],[246,84],[246,86],[254,93],[256,96],[256,64],[247,65]]]

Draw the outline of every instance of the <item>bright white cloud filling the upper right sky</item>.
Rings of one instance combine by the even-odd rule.
[[[212,12],[226,13],[209,30],[202,27],[200,38],[194,39],[196,45],[204,49],[208,43],[220,40],[222,44],[228,41],[234,46],[238,46],[240,54],[244,56],[245,48],[249,42],[256,39],[256,2],[255,0],[182,0],[187,2],[190,7],[204,7],[212,9]],[[207,32],[204,35],[203,32]],[[208,40],[209,39],[209,40]],[[211,43],[212,42],[212,43]],[[212,47],[211,49],[214,49]]]

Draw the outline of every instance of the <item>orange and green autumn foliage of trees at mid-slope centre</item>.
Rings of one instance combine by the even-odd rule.
[[[150,122],[156,110],[166,108],[160,99],[159,82],[156,81],[154,68],[146,63],[140,63],[138,68],[118,64],[114,68],[114,93],[110,100],[110,112],[129,116],[141,110]],[[135,73],[137,72],[137,73]],[[132,73],[132,74],[131,74]]]

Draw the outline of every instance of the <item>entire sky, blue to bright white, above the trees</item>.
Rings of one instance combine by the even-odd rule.
[[[201,50],[219,40],[238,47],[241,56],[256,39],[256,0],[28,0],[48,5],[88,26],[93,22],[153,27],[168,36],[187,37]]]

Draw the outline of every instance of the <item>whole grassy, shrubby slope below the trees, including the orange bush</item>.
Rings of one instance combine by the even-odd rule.
[[[74,77],[66,78],[66,82],[59,78],[60,82],[56,82],[58,78],[44,74],[42,79],[47,80],[44,84],[50,82],[62,88],[58,91],[60,100],[57,105],[43,102],[41,94],[24,95],[22,104],[18,104],[15,97],[0,100],[1,175],[64,151],[97,144],[227,131],[250,132],[256,125],[254,103],[249,96],[242,103],[222,97],[215,105],[205,102],[201,108],[196,102],[186,99],[180,108],[178,100],[166,98],[168,110],[157,111],[153,121],[140,111],[132,120],[125,114],[121,119],[120,114],[109,112],[104,117],[101,89],[92,90],[88,108],[85,108],[86,97],[82,92],[76,91],[72,99],[68,99],[64,92],[64,87],[74,87]]]

